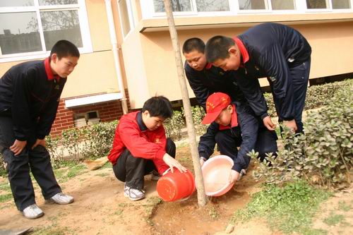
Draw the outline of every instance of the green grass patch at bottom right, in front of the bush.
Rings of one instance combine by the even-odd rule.
[[[325,231],[311,229],[311,225],[318,205],[329,195],[303,181],[288,183],[282,188],[264,186],[263,191],[253,195],[246,208],[234,213],[231,222],[264,218],[271,229],[285,234],[325,234]]]

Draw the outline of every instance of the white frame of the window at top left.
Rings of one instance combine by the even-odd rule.
[[[90,38],[90,28],[88,24],[87,10],[84,0],[78,0],[77,4],[63,4],[54,6],[40,6],[38,0],[33,0],[34,6],[13,6],[13,7],[0,7],[0,13],[22,13],[34,12],[37,16],[38,32],[40,33],[40,42],[42,44],[42,51],[40,52],[23,52],[0,55],[0,63],[21,61],[30,59],[43,59],[49,56],[50,51],[45,49],[44,32],[42,28],[42,19],[40,13],[44,11],[77,11],[78,20],[80,23],[80,34],[83,47],[78,47],[80,54],[92,52],[92,41]]]

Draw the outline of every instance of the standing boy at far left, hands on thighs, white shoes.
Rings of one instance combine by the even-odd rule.
[[[48,202],[73,202],[56,182],[44,138],[52,128],[66,77],[79,57],[74,44],[60,40],[44,61],[13,66],[0,79],[0,151],[16,207],[28,219],[44,215],[35,204],[30,171]]]

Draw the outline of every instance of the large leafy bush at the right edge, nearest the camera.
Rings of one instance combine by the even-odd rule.
[[[284,148],[277,158],[268,155],[267,162],[254,172],[256,179],[282,183],[305,179],[321,186],[342,187],[350,182],[353,168],[353,82],[336,93],[317,112],[310,112],[304,122],[305,135],[284,131]],[[256,159],[255,152],[249,156]],[[270,164],[271,162],[271,164]]]

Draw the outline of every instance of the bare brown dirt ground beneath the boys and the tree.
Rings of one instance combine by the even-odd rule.
[[[189,169],[193,169],[189,147],[178,147],[177,159]],[[6,181],[7,179],[0,178],[0,183],[4,184]],[[124,198],[124,183],[116,180],[111,167],[96,171],[85,170],[83,174],[60,185],[65,193],[74,196],[75,202],[71,205],[47,205],[39,188],[35,187],[37,205],[45,213],[44,217],[39,219],[25,219],[16,210],[12,199],[1,203],[0,234],[4,229],[32,227],[32,234],[222,235],[225,234],[234,211],[249,202],[251,193],[258,191],[259,183],[256,183],[249,173],[226,195],[210,198],[210,203],[203,208],[198,207],[196,193],[189,200],[182,202],[162,202],[155,190],[156,181],[150,181],[150,176],[145,176],[146,198],[132,202]],[[351,205],[349,208],[353,208],[352,189],[325,203],[322,217],[316,219],[315,226],[327,230],[328,234],[351,234],[352,209],[345,212],[343,225],[330,227],[322,223],[327,215],[337,209],[338,204],[342,205],[342,200]],[[231,234],[280,233],[270,231],[265,222],[250,221],[246,224],[236,224]]]

